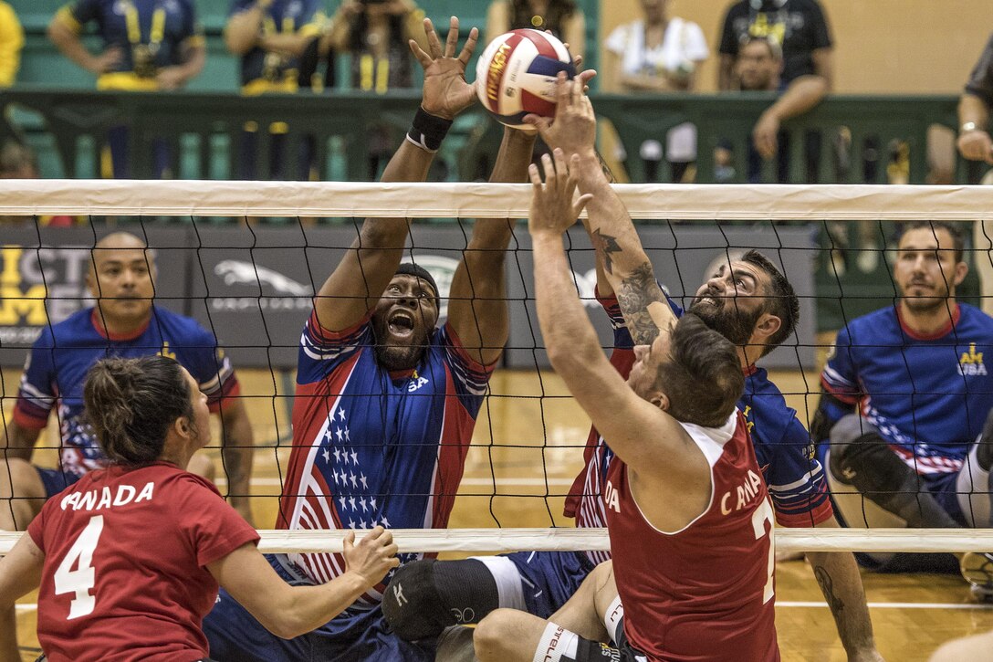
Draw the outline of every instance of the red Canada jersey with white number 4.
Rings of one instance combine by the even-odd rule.
[[[28,535],[45,553],[38,640],[50,662],[207,657],[207,565],[259,539],[210,482],[167,463],[87,473]]]

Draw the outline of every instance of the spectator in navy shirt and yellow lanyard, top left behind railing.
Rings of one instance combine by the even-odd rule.
[[[98,55],[79,38],[89,23],[96,25],[103,43]],[[52,19],[49,39],[72,62],[96,75],[97,89],[179,89],[200,75],[207,60],[193,0],[74,0]],[[104,176],[130,177],[127,129],[114,127],[107,140],[110,163],[105,162]],[[156,143],[154,158],[156,174],[166,176],[170,154],[165,142]]]

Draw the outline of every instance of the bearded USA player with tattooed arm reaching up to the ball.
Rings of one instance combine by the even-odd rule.
[[[583,110],[569,97],[560,98],[559,108],[554,123],[540,127],[542,139],[550,147],[562,148],[567,155],[592,150],[592,107]],[[602,171],[597,174],[592,169],[580,170],[581,193],[594,193],[601,199],[612,196],[609,187],[604,188],[605,183]],[[645,344],[657,328],[643,315],[634,324],[631,319],[626,322],[611,285],[612,277],[626,280],[634,275],[621,271],[615,254],[624,245],[620,238],[626,237],[630,246],[638,241],[631,218],[625,213],[595,219],[594,214],[595,209],[591,209],[586,227],[597,248],[598,296],[615,328],[611,364],[627,378],[636,361],[635,345]],[[668,303],[677,316],[682,314],[674,302]],[[745,392],[738,407],[748,422],[777,522],[787,527],[837,527],[827,499],[824,472],[813,457],[806,429],[796,413],[786,407],[766,371],[755,365],[792,334],[799,316],[792,286],[771,261],[752,250],[720,264],[700,286],[690,310],[738,346],[745,374]],[[565,514],[575,518],[578,527],[607,525],[603,497],[613,457],[593,428],[584,453],[586,465],[566,502]],[[853,556],[816,553],[809,557],[849,659],[879,660],[862,579]],[[521,552],[465,561],[422,561],[396,574],[383,598],[383,612],[394,630],[411,640],[435,636],[448,626],[477,623],[497,607],[548,618],[598,564],[609,558],[604,552]],[[448,649],[453,656],[439,656],[439,660],[472,659],[469,628],[453,628],[447,637],[452,642],[461,638],[462,645],[453,643]]]

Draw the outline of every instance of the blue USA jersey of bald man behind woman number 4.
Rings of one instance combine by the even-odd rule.
[[[82,386],[86,373],[100,359],[161,354],[190,371],[207,394],[212,412],[222,398],[239,388],[230,361],[217,347],[213,333],[195,319],[153,307],[146,326],[126,336],[103,329],[96,308],[84,308],[46,327],[28,355],[14,408],[14,420],[42,429],[58,406],[62,435],[62,470],[82,475],[106,465],[91,428],[82,420]]]

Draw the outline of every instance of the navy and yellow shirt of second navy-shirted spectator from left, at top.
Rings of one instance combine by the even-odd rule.
[[[233,16],[256,5],[256,0],[233,0],[228,16]],[[317,37],[324,17],[318,0],[275,0],[264,10],[262,33],[266,35],[301,34]],[[264,51],[255,46],[241,56],[241,84],[254,81],[281,83],[289,80],[296,84],[300,62],[297,58]]]

